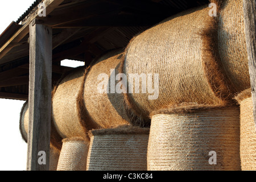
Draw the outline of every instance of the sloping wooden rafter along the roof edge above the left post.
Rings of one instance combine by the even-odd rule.
[[[46,5],[46,15],[51,13],[63,1],[64,0],[45,0],[44,3]],[[15,43],[19,43],[20,40],[22,40],[24,36],[28,34],[29,24],[32,22],[33,19],[38,17],[39,13],[40,11],[37,10],[34,13],[32,13],[30,16],[28,16],[27,20],[24,21],[23,26],[20,27],[19,30],[16,31],[16,33],[13,36],[11,36],[11,38],[5,44],[3,44],[3,46],[0,48],[0,59],[3,56],[5,56],[6,53],[8,53],[15,46]],[[10,43],[14,43],[14,44],[10,44]]]

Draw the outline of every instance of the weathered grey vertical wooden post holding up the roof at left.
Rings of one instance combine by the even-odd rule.
[[[27,170],[48,171],[51,133],[52,28],[30,23]]]

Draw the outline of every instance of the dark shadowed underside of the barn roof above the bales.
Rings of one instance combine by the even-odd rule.
[[[38,16],[40,3],[47,16]],[[0,35],[0,98],[27,100],[29,26],[53,28],[52,79],[55,83],[72,68],[60,61],[72,59],[85,65],[110,49],[123,48],[134,35],[168,16],[208,0],[39,0]]]

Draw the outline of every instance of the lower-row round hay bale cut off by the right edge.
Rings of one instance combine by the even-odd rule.
[[[256,170],[256,128],[251,89],[238,94],[240,104],[240,158],[242,171]]]

